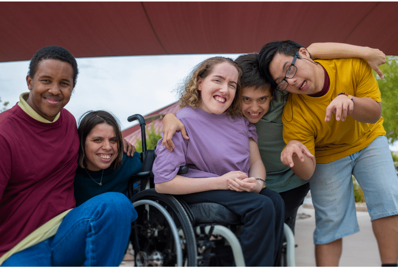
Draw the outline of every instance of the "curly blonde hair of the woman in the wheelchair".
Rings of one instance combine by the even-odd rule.
[[[225,57],[212,57],[203,61],[202,63],[198,64],[185,78],[184,83],[179,89],[179,100],[181,102],[181,108],[185,106],[196,108],[199,105],[199,102],[201,100],[201,93],[200,91],[198,91],[197,79],[205,79],[213,71],[213,68],[217,64],[225,62],[230,63],[238,70],[238,84],[236,88],[236,93],[232,104],[227,109],[227,115],[230,115],[232,117],[242,115],[240,111],[241,105],[238,100],[238,93],[241,91],[242,68],[234,60]]]

